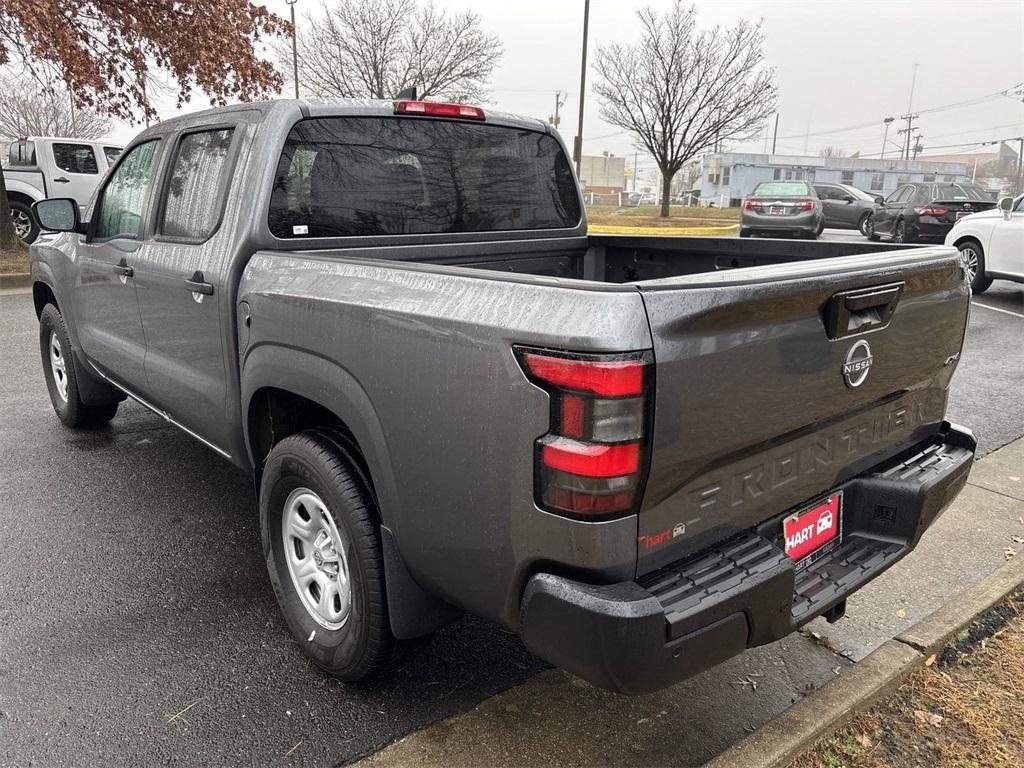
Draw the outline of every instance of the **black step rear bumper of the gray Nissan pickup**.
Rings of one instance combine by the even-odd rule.
[[[928,444],[844,483],[843,542],[800,572],[782,548],[783,514],[636,582],[539,573],[523,595],[523,641],[623,693],[684,680],[788,635],[908,554],[964,487],[974,451],[970,431],[946,424]]]

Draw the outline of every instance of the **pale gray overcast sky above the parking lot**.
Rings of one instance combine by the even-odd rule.
[[[583,0],[434,2],[453,11],[475,10],[482,26],[504,43],[505,54],[493,78],[492,106],[547,119],[555,91],[568,94],[561,131],[571,146]],[[288,12],[284,0],[267,4],[282,15]],[[602,44],[637,41],[636,9],[645,5],[667,8],[670,2],[592,0],[591,52]],[[321,0],[298,0],[299,24],[306,10],[316,12],[319,6]],[[918,125],[926,154],[969,151],[979,141],[1024,134],[1024,103],[993,95],[1024,81],[1022,0],[698,0],[696,6],[701,26],[764,19],[765,58],[775,68],[779,89],[780,154],[817,154],[833,144],[848,154],[877,155],[883,119],[906,113],[914,63],[913,111],[923,113]],[[589,91],[592,70],[587,77]],[[924,112],[983,97],[988,98]],[[199,95],[190,110],[205,103]],[[174,114],[173,101],[161,114]],[[127,139],[133,131],[120,127],[117,136]],[[584,137],[586,154],[606,151],[630,156],[632,162],[633,140],[601,121],[592,92],[587,94]],[[761,152],[764,141],[727,148]],[[641,158],[640,165],[649,161]]]

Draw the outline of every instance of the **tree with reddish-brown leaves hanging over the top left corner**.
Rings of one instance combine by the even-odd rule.
[[[155,118],[151,68],[213,104],[281,89],[281,75],[254,43],[291,31],[250,0],[0,0],[0,65],[20,62],[40,82],[62,81],[79,108],[116,118]],[[0,181],[0,248],[16,243]]]

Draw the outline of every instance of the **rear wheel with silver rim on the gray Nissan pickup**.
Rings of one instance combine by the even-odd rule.
[[[346,682],[388,669],[407,644],[391,633],[376,504],[329,432],[273,446],[259,514],[270,583],[306,656]]]

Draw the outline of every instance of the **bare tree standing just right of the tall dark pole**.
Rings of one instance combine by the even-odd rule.
[[[761,25],[696,29],[696,9],[676,0],[660,14],[638,11],[635,45],[601,46],[594,87],[601,117],[632,133],[662,171],[662,216],[672,179],[725,139],[744,140],[775,109],[773,71],[764,65]]]

